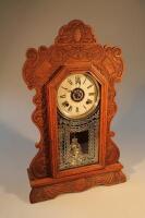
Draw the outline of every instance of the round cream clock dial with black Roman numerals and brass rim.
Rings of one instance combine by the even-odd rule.
[[[80,119],[95,110],[99,101],[99,85],[88,73],[72,73],[58,88],[58,108],[70,119]]]

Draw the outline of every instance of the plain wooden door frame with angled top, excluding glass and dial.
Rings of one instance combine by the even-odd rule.
[[[57,120],[57,89],[60,83],[64,80],[70,73],[80,71],[81,73],[86,71],[90,73],[100,84],[100,130],[99,130],[99,161],[92,164],[89,166],[81,166],[72,169],[59,170],[59,143],[58,143],[58,120]],[[51,173],[53,178],[62,178],[67,175],[75,174],[76,172],[83,173],[89,170],[98,170],[105,168],[105,153],[106,153],[106,132],[107,129],[107,96],[108,96],[108,83],[105,76],[90,63],[77,63],[73,65],[63,65],[59,69],[51,80],[46,84],[47,87],[47,114],[48,122],[51,123],[48,130],[48,136],[50,138],[50,152],[51,154]],[[51,104],[49,104],[49,101]],[[96,135],[97,137],[97,135]]]

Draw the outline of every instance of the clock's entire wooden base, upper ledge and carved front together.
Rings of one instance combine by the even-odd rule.
[[[75,174],[59,179],[45,178],[31,181],[31,203],[52,199],[62,193],[82,192],[96,185],[113,185],[126,181],[122,165],[114,164],[99,171]]]

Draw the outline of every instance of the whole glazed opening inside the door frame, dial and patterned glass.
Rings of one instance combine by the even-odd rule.
[[[89,72],[71,72],[59,85],[59,169],[97,164],[100,85]]]

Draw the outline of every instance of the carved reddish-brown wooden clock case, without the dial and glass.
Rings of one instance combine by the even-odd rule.
[[[56,89],[74,71],[89,71],[101,86],[99,162],[60,171]],[[62,26],[52,46],[27,50],[23,77],[28,88],[36,90],[32,119],[40,132],[38,153],[27,170],[31,203],[125,182],[119,148],[111,138],[114,133],[110,131],[117,111],[114,83],[120,82],[122,71],[121,50],[98,44],[90,27],[78,20]]]

